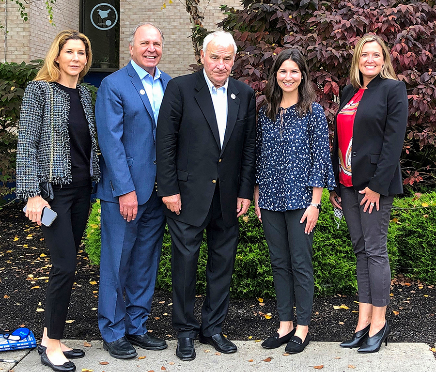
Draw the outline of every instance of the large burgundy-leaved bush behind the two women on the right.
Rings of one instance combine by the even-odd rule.
[[[275,55],[298,48],[307,59],[332,129],[358,39],[381,36],[395,72],[407,86],[408,129],[402,155],[405,184],[436,184],[436,7],[429,1],[267,0],[222,6],[219,24],[238,45],[234,77],[256,92],[265,88]],[[416,185],[414,185],[416,186]]]

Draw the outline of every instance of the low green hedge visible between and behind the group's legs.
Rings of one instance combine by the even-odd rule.
[[[426,207],[428,205],[428,207]],[[434,256],[436,229],[436,193],[420,198],[395,199],[388,231],[388,252],[392,275],[399,271],[428,283],[436,283]],[[423,207],[424,206],[424,207]],[[247,216],[240,219],[239,245],[231,285],[233,297],[273,297],[274,282],[268,248],[262,225],[250,207]],[[85,239],[86,252],[91,263],[100,261],[100,204],[96,202],[88,222]],[[157,288],[171,290],[171,238],[165,230],[162,258],[157,277]],[[197,293],[206,288],[205,267],[207,245],[205,236],[200,248]],[[351,248],[345,221],[339,229],[333,220],[333,209],[323,194],[323,210],[313,239],[313,268],[315,294],[352,294],[357,291],[356,258]]]

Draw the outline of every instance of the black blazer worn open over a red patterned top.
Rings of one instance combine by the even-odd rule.
[[[403,192],[400,155],[407,126],[408,101],[405,83],[376,76],[363,93],[354,119],[351,179],[356,190],[369,187],[381,195]],[[338,112],[357,92],[347,85]],[[338,114],[336,114],[337,116]],[[336,117],[332,163],[339,186],[339,155]],[[335,188],[339,195],[339,187]]]

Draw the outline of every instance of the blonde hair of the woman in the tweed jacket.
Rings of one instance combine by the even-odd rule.
[[[61,72],[59,70],[59,64],[56,62],[56,58],[58,58],[63,46],[68,40],[80,40],[85,45],[85,55],[88,58],[88,62],[86,62],[83,70],[80,71],[79,80],[87,74],[93,62],[91,42],[79,31],[63,30],[56,35],[53,43],[51,43],[46,58],[44,59],[44,64],[33,80],[58,81],[61,78]]]

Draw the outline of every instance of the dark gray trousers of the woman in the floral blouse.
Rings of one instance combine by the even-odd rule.
[[[300,223],[305,209],[275,212],[262,209],[266,243],[276,289],[281,322],[294,319],[294,299],[299,325],[309,325],[313,303],[313,231],[304,233]]]

